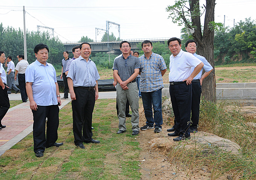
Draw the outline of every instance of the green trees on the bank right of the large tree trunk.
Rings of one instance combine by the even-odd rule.
[[[251,18],[245,18],[234,28],[217,30],[214,37],[214,48],[218,54],[215,59],[224,58],[224,64],[235,63],[241,57],[241,62],[256,62],[256,22]]]

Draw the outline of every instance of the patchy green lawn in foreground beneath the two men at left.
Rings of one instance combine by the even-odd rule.
[[[61,147],[50,147],[43,157],[33,151],[33,135],[6,151],[0,158],[0,179],[88,179],[139,180],[139,142],[132,136],[130,119],[127,133],[117,134],[115,99],[99,99],[93,112],[93,138],[100,144],[75,146],[71,103],[59,113],[58,141]]]

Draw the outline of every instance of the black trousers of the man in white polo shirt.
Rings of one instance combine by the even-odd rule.
[[[180,137],[189,137],[190,112],[192,102],[192,85],[170,85],[172,109],[175,116],[175,133]]]

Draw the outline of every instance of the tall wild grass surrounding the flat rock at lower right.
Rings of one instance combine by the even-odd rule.
[[[256,118],[248,117],[237,107],[226,102],[215,104],[204,98],[200,105],[199,130],[230,139],[240,145],[241,155],[234,155],[220,150],[213,145],[194,144],[195,148],[185,148],[186,142],[179,142],[169,153],[176,168],[186,172],[191,179],[193,174],[202,172],[209,179],[219,177],[227,179],[256,179],[256,128],[248,122],[256,123]],[[196,135],[196,134],[191,134]]]

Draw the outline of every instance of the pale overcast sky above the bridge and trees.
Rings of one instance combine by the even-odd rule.
[[[205,5],[201,0],[201,5]],[[62,42],[79,41],[82,36],[95,40],[95,28],[106,29],[106,21],[120,24],[121,39],[152,39],[180,37],[181,26],[168,19],[165,8],[174,0],[0,0],[0,23],[23,30],[23,6],[26,10],[26,29],[37,31],[37,25],[54,28]],[[216,0],[215,22],[233,27],[245,18],[256,19],[256,0]],[[40,29],[46,30],[46,29]],[[118,27],[110,33],[119,36]],[[101,40],[104,31],[99,31]]]

